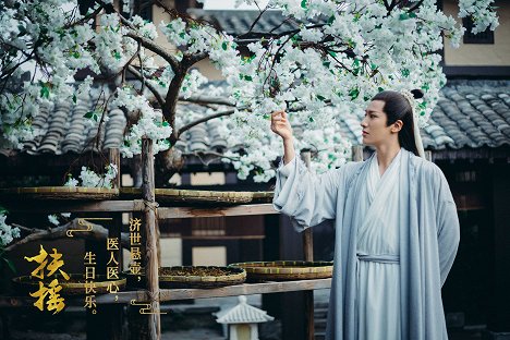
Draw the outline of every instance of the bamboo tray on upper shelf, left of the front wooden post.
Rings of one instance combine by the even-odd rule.
[[[37,186],[0,189],[0,196],[10,199],[110,199],[119,196],[118,189]]]

